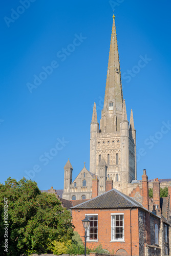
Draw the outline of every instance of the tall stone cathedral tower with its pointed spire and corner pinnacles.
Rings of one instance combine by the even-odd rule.
[[[127,183],[136,179],[136,130],[131,111],[130,127],[123,100],[115,16],[109,53],[104,106],[101,112],[100,130],[94,103],[90,138],[90,172],[99,173],[101,159],[106,163],[106,177],[113,186],[126,193]],[[100,182],[99,182],[100,183]],[[99,185],[100,186],[100,185]],[[103,189],[102,189],[103,190]]]

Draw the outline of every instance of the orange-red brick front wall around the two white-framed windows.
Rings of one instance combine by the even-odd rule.
[[[111,241],[111,214],[124,214],[124,241]],[[103,249],[107,249],[110,253],[115,254],[117,250],[124,249],[128,255],[131,255],[131,235],[130,235],[130,209],[119,210],[72,210],[73,225],[75,230],[84,236],[84,228],[82,221],[86,214],[98,214],[98,242],[87,242],[87,247],[93,248],[102,245]],[[139,230],[138,230],[138,209],[131,211],[132,215],[132,255],[139,255]],[[82,238],[84,241],[84,238]]]

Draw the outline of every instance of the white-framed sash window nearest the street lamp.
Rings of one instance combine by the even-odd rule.
[[[89,228],[87,229],[87,241],[97,241],[98,239],[98,214],[86,215],[90,220]]]

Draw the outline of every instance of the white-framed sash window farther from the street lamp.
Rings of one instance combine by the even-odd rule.
[[[111,214],[111,241],[124,241],[124,214]]]

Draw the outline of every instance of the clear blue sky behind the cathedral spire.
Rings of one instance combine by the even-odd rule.
[[[171,178],[171,4],[111,3],[1,3],[1,183],[29,172],[40,189],[62,189],[68,158],[73,178],[84,161],[89,169],[92,105],[96,101],[100,121],[113,8],[123,96],[129,118],[133,109],[137,130],[138,179],[143,168],[149,179]],[[145,65],[140,67],[142,58]],[[42,73],[50,65],[49,74]],[[55,145],[57,152],[52,150]],[[45,160],[49,152],[54,157]]]

